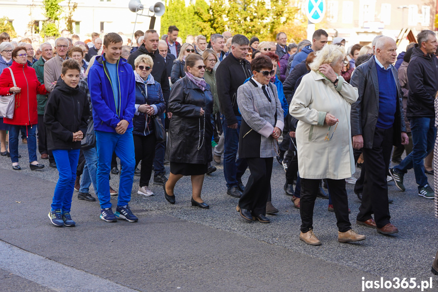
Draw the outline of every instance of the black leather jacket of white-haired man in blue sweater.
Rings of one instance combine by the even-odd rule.
[[[374,57],[357,67],[350,84],[357,87],[359,98],[351,105],[351,136],[362,135],[363,147],[373,148],[374,132],[379,117],[379,80]],[[393,145],[401,145],[401,132],[406,132],[405,114],[403,113],[403,92],[398,82],[397,70],[390,65],[397,85],[397,107],[393,124]]]

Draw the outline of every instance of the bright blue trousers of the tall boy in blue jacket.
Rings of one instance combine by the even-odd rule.
[[[132,182],[134,180],[134,140],[132,128],[125,134],[94,131],[96,134],[97,163],[97,198],[102,209],[111,208],[110,171],[113,152],[120,158],[121,174],[119,183],[119,202],[117,206],[126,206],[131,200]],[[76,175],[76,174],[75,174]]]

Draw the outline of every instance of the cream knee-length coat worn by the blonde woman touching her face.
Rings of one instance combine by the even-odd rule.
[[[350,110],[357,98],[357,88],[342,76],[336,87],[314,71],[302,77],[289,107],[289,113],[299,120],[296,128],[299,177],[345,179],[354,174]],[[335,125],[329,130],[324,124],[327,113],[339,119],[334,133]],[[327,132],[330,140],[325,139]]]

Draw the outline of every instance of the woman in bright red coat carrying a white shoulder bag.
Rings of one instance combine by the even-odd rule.
[[[27,136],[27,151],[29,152],[30,170],[44,168],[37,161],[38,124],[37,93],[47,94],[44,85],[37,79],[33,68],[27,67],[27,53],[25,47],[17,47],[12,51],[11,68],[15,77],[14,86],[11,71],[5,69],[0,75],[0,95],[15,94],[15,110],[12,119],[4,118],[4,123],[9,124],[9,151],[12,160],[12,169],[21,170],[18,165],[18,135],[22,128]]]

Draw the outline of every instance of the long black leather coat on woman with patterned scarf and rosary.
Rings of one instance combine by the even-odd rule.
[[[202,117],[201,108],[205,111]],[[192,164],[207,164],[212,161],[213,94],[210,85],[207,84],[206,90],[202,91],[187,76],[181,78],[172,85],[169,110],[173,115],[166,148],[168,159]],[[197,150],[201,144],[203,146]]]

